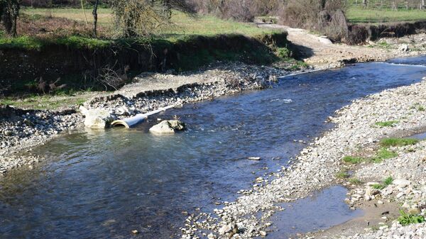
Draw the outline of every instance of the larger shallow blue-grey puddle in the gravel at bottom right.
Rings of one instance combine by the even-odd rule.
[[[345,204],[347,191],[342,186],[330,187],[305,199],[283,204],[285,210],[271,218],[274,231],[268,238],[295,238],[297,233],[328,229],[362,216],[363,211],[351,210]]]

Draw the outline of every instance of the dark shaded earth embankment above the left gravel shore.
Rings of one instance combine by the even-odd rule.
[[[0,93],[16,93],[36,88],[35,79],[67,87],[87,89],[105,70],[126,72],[182,72],[197,70],[217,60],[238,60],[248,64],[270,65],[278,60],[270,45],[285,48],[287,34],[272,33],[250,38],[244,35],[195,36],[170,42],[112,42],[88,46],[48,43],[40,49],[0,46]]]

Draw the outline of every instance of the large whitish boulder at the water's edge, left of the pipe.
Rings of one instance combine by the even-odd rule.
[[[115,117],[106,109],[86,109],[80,107],[80,112],[86,117],[84,126],[88,128],[108,128],[110,123],[115,120]]]

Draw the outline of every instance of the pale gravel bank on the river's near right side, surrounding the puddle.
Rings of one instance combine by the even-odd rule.
[[[252,189],[240,191],[244,196],[224,203],[224,208],[214,210],[214,214],[200,213],[187,218],[182,238],[199,238],[203,237],[202,233],[208,238],[263,237],[273,225],[268,218],[281,210],[277,206],[279,203],[342,183],[352,188],[351,198],[347,201],[353,207],[357,207],[361,200],[376,200],[379,206],[396,201],[402,205],[400,209],[424,215],[425,142],[388,148],[395,155],[358,162],[357,167],[352,165],[352,175],[344,175],[343,180],[340,176],[342,172],[349,172],[349,166],[343,160],[345,156],[371,154],[378,150],[383,138],[409,136],[424,128],[426,114],[422,106],[426,106],[426,78],[409,87],[389,89],[353,101],[337,111],[336,117],[329,118],[337,124],[336,128],[315,139],[300,152],[292,165],[270,177],[256,179]],[[383,122],[392,124],[379,126]],[[373,191],[371,186],[381,184],[386,177],[392,177],[393,183]],[[425,238],[425,223],[402,227],[394,221],[395,218],[383,220],[385,222],[377,226],[378,230],[374,230],[374,225],[366,225],[366,230],[358,228],[366,234],[348,230],[349,235],[337,233],[329,238]],[[307,235],[307,238],[317,237]]]

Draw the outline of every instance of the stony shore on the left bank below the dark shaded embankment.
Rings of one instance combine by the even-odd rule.
[[[231,63],[209,66],[185,74],[141,74],[112,94],[94,96],[84,103],[87,109],[104,109],[116,119],[128,118],[164,106],[214,99],[225,94],[263,89],[277,77],[290,74],[275,67]],[[0,109],[0,174],[43,160],[31,154],[31,147],[43,144],[60,133],[84,128],[78,106],[62,111]],[[22,152],[27,152],[25,155]]]

